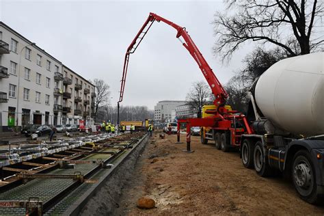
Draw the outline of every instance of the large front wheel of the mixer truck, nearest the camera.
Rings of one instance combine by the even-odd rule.
[[[315,169],[308,151],[299,150],[295,154],[291,176],[293,176],[295,189],[301,199],[311,204],[319,202]]]

